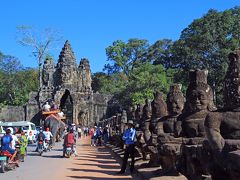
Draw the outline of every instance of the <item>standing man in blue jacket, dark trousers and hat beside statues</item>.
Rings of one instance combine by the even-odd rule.
[[[124,174],[126,171],[127,167],[127,161],[129,155],[131,156],[131,166],[130,166],[130,172],[133,173],[134,171],[134,148],[135,148],[135,138],[136,138],[136,130],[133,125],[133,121],[129,120],[127,123],[128,128],[125,130],[123,133],[123,141],[126,146],[125,152],[124,152],[124,157],[123,157],[123,162],[122,162],[122,167],[121,170],[118,172],[118,174]]]

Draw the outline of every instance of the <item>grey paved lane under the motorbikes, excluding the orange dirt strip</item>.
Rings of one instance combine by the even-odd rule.
[[[64,170],[65,164],[69,159],[61,158],[62,150],[61,143],[56,144],[55,148],[43,153],[42,157],[37,152],[34,152],[36,145],[28,147],[28,156],[25,162],[20,164],[20,167],[0,174],[0,179],[3,180],[38,180],[53,177],[58,170]]]

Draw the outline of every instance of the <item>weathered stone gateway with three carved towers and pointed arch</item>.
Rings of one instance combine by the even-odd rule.
[[[66,123],[92,126],[106,115],[110,95],[93,93],[89,61],[77,65],[69,41],[66,41],[55,65],[51,58],[44,61],[42,85],[39,92],[32,92],[26,105],[26,120],[34,122],[43,104],[52,99],[66,115]]]

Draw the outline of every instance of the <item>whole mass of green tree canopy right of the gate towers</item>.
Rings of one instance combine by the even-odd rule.
[[[107,92],[107,83],[111,82],[109,92],[116,93],[114,89],[118,87],[121,98],[128,96],[131,103],[138,103],[150,97],[146,94],[151,94],[156,84],[164,93],[171,83],[182,83],[186,89],[190,69],[208,69],[209,84],[216,94],[215,102],[221,106],[228,54],[240,45],[239,19],[239,7],[223,12],[210,9],[186,27],[176,41],[161,39],[152,45],[139,39],[130,39],[126,43],[114,41],[106,49],[110,63],[104,70],[108,75],[102,74],[105,81],[100,78],[98,89]],[[156,72],[161,75],[155,75]]]

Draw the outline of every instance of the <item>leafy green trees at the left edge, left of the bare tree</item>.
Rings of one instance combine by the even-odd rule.
[[[37,71],[24,69],[13,56],[0,53],[0,104],[23,105],[37,90]]]

